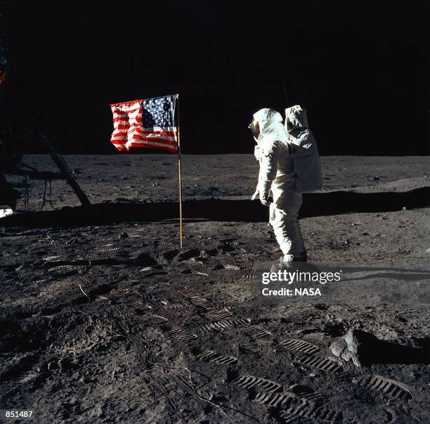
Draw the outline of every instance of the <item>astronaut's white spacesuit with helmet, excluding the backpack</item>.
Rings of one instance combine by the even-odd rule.
[[[283,262],[306,261],[298,220],[302,195],[297,190],[289,134],[282,123],[282,116],[273,109],[261,109],[253,117],[260,131],[258,137],[254,136],[260,171],[252,200],[259,196],[261,203],[268,205],[269,192],[272,191],[269,222],[284,255]]]

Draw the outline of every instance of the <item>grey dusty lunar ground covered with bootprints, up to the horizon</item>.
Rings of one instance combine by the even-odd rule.
[[[182,250],[175,155],[65,159],[90,207],[65,181],[8,176],[21,198],[0,219],[0,409],[34,423],[430,422],[429,158],[323,157],[300,221],[310,264],[422,298],[284,304],[256,297],[256,264],[280,250],[250,200],[252,155],[183,155]]]

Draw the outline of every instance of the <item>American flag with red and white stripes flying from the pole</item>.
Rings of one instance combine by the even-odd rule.
[[[178,153],[177,98],[174,94],[110,105],[114,120],[110,142],[118,150],[147,147]]]

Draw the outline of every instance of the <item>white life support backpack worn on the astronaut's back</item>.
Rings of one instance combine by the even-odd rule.
[[[288,133],[289,152],[294,160],[297,190],[319,190],[323,186],[323,173],[318,146],[308,128],[306,109],[300,105],[285,109],[284,124]]]

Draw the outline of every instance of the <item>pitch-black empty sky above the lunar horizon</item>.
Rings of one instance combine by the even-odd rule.
[[[283,86],[323,154],[428,153],[419,2],[17,3],[8,96],[63,153],[114,153],[109,104],[174,93],[183,153],[252,153],[252,113],[283,111]]]

